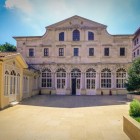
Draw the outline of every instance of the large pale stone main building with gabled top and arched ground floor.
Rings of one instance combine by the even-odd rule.
[[[40,71],[43,94],[127,92],[133,35],[110,35],[106,25],[73,16],[47,26],[43,36],[14,38],[17,51]]]

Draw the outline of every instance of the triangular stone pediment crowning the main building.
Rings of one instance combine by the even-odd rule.
[[[103,25],[101,23],[80,17],[80,16],[73,16],[68,19],[65,19],[63,21],[60,21],[58,23],[55,23],[53,25],[47,26],[47,29],[73,29],[73,28],[106,28],[106,25]]]

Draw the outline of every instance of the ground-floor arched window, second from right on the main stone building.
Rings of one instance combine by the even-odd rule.
[[[101,88],[111,88],[111,71],[108,68],[101,71]]]

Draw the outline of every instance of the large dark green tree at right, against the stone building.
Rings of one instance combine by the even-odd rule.
[[[128,91],[140,91],[140,58],[134,60],[128,70],[126,88]]]

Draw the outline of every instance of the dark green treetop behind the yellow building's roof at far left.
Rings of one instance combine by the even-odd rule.
[[[16,46],[6,42],[5,44],[0,45],[0,51],[1,52],[16,52]]]

